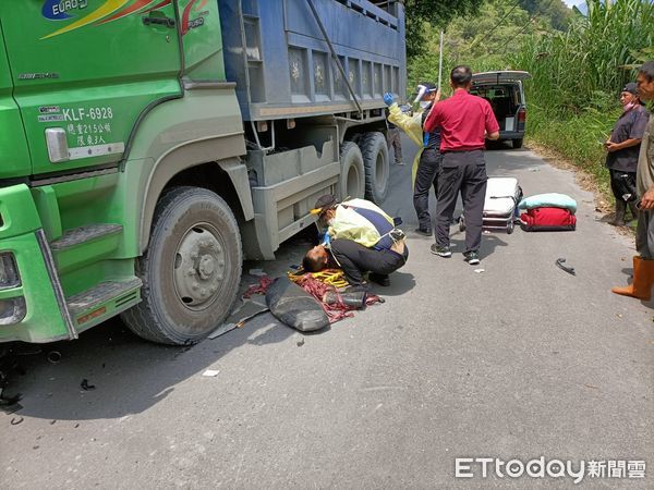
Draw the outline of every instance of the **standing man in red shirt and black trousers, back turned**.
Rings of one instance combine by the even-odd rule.
[[[480,264],[482,222],[486,196],[485,139],[499,138],[499,124],[487,100],[470,94],[472,71],[457,66],[450,74],[455,94],[432,108],[424,125],[425,133],[440,128],[440,151],[444,154],[438,176],[436,206],[436,244],[432,253],[451,257],[449,225],[459,192],[465,217],[465,261]]]

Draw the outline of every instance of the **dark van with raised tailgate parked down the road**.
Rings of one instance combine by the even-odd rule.
[[[522,82],[528,72],[498,71],[472,75],[471,94],[491,102],[499,123],[499,139],[510,139],[513,148],[522,147],[526,123],[526,103]]]

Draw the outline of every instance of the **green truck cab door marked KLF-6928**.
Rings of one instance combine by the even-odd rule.
[[[35,175],[119,161],[181,91],[172,0],[3,1],[0,20]]]

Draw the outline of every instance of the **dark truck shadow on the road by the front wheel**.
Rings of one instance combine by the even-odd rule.
[[[19,414],[28,417],[88,420],[137,414],[229,352],[244,344],[282,342],[294,334],[290,328],[264,319],[271,317],[267,315],[242,330],[191,347],[145,342],[113,319],[75,342],[47,344],[39,354],[19,356],[25,375],[10,380],[8,393],[23,394]],[[56,365],[48,362],[51,352],[61,355]],[[95,388],[83,390],[85,379]]]

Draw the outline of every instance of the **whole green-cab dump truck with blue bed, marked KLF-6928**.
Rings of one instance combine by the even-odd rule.
[[[0,40],[0,342],[197,342],[317,196],[388,191],[401,2],[4,0]]]

